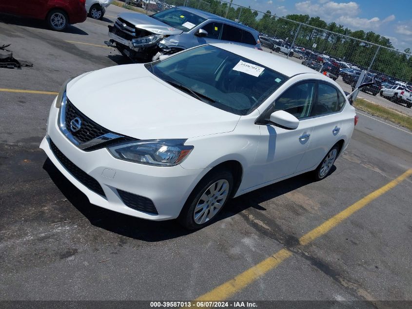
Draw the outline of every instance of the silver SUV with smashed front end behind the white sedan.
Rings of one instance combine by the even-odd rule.
[[[258,32],[245,25],[188,7],[152,16],[121,13],[109,25],[108,46],[132,61],[155,61],[197,45],[232,42],[261,49]]]

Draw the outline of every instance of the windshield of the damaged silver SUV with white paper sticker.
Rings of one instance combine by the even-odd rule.
[[[206,21],[206,19],[194,13],[190,13],[177,7],[156,13],[152,15],[152,17],[184,32],[188,32],[203,21]]]

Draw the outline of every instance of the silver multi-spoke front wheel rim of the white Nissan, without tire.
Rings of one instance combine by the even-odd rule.
[[[193,218],[196,224],[211,220],[225,203],[229,193],[229,182],[220,179],[210,185],[196,204]]]

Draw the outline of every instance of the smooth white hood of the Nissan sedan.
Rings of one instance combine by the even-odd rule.
[[[240,118],[163,82],[143,64],[84,74],[68,83],[67,98],[108,130],[141,140],[230,132]]]

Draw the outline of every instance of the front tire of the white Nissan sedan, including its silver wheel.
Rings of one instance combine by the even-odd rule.
[[[212,171],[206,175],[188,197],[180,212],[179,223],[187,229],[199,229],[214,222],[230,199],[233,185],[233,175],[227,169]]]

